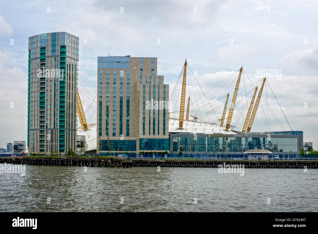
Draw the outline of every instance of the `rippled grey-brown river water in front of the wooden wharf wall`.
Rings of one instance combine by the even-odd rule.
[[[28,166],[0,174],[1,211],[317,211],[318,170]],[[196,198],[196,199],[195,199]],[[269,200],[270,199],[270,200]]]

